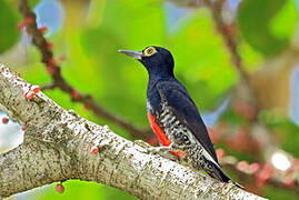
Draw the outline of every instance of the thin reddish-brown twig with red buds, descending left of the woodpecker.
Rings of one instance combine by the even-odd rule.
[[[129,133],[136,139],[148,140],[152,137],[152,132],[150,130],[137,128],[123,118],[120,118],[104,109],[102,106],[97,103],[91,96],[82,94],[78,92],[71,84],[69,84],[69,82],[67,82],[61,74],[60,66],[58,66],[53,59],[53,52],[49,48],[49,42],[43,37],[42,31],[38,29],[36,22],[37,17],[28,6],[27,0],[20,0],[19,10],[23,16],[24,21],[28,21],[26,23],[27,32],[32,36],[33,44],[41,52],[41,62],[46,64],[47,71],[50,73],[53,81],[51,84],[42,87],[42,89],[59,88],[63,92],[69,93],[72,101],[83,103],[86,108],[92,110],[94,114],[114,122],[124,130],[129,131]]]

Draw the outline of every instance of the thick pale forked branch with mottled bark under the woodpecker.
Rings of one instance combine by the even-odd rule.
[[[0,64],[0,109],[26,124],[24,142],[0,154],[0,196],[54,181],[81,179],[119,188],[141,199],[262,199],[152,154],[107,126],[67,111]],[[90,153],[98,146],[97,154]],[[1,199],[0,197],[0,199]]]

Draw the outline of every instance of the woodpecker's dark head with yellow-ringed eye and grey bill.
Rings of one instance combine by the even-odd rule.
[[[171,53],[161,47],[150,46],[142,51],[119,50],[129,57],[139,60],[153,78],[173,77],[175,61]]]

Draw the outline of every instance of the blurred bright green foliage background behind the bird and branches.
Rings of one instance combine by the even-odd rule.
[[[206,123],[216,133],[226,127],[228,133],[225,139],[215,141],[216,148],[225,149],[239,160],[270,162],[273,167],[275,151],[269,154],[262,152],[265,149],[283,150],[299,157],[298,3],[297,0],[223,0],[219,14],[228,36],[236,40],[248,83],[253,89],[255,96],[250,99],[255,99],[258,111],[257,119],[252,120],[242,113],[242,110],[249,113],[246,108],[251,108],[251,101],[242,94],[242,78],[231,59],[232,52],[217,30],[211,8],[203,1],[30,0],[38,26],[48,28],[46,38],[53,43],[52,51],[62,76],[78,91],[91,94],[111,112],[148,129],[146,69],[117,50],[165,47],[172,52],[176,76],[195,99]],[[21,20],[17,0],[0,0],[0,62],[19,71],[33,84],[50,83],[51,77],[31,37],[26,30],[17,29]],[[63,108],[73,109],[99,124],[109,124],[114,132],[133,140],[128,131],[94,116],[59,89],[44,92]],[[240,106],[239,102],[246,103]],[[262,133],[253,129],[256,124],[262,124],[271,139],[265,142]],[[245,143],[243,132],[249,132],[250,140],[260,142],[259,153]],[[0,124],[1,150],[21,140],[18,124]],[[248,148],[240,148],[247,144]],[[233,172],[230,174],[238,180]],[[137,199],[92,182],[74,180],[63,184],[63,194],[50,186],[13,198]],[[267,184],[252,189],[255,187],[252,183],[252,191],[270,199],[299,198],[298,192],[287,187],[277,189]]]

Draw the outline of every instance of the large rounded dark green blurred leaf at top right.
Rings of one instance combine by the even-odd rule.
[[[295,3],[292,0],[245,0],[239,7],[238,22],[250,46],[265,56],[273,56],[289,44],[297,23]]]

